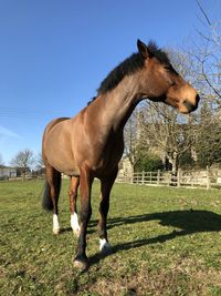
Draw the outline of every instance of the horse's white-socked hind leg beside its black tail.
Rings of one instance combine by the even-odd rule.
[[[61,188],[61,173],[51,165],[46,165],[46,181],[50,186],[50,197],[53,205],[53,233],[59,234],[59,195]]]

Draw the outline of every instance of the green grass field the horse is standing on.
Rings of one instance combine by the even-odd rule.
[[[113,254],[96,234],[98,183],[87,235],[91,267],[73,267],[67,182],[62,233],[41,208],[43,181],[0,183],[0,295],[221,295],[220,191],[115,184],[108,215]]]

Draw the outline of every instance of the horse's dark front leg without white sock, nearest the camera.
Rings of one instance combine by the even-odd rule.
[[[81,190],[81,229],[76,247],[76,256],[74,265],[81,269],[88,268],[88,258],[86,256],[86,228],[92,215],[91,191],[92,191],[92,173],[85,165],[81,169],[80,190]]]

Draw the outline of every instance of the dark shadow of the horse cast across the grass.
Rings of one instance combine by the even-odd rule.
[[[117,253],[118,251],[128,251],[130,248],[136,248],[144,245],[165,243],[177,236],[190,235],[194,233],[221,231],[221,215],[209,211],[193,211],[193,210],[170,211],[170,212],[152,213],[152,214],[137,215],[137,216],[129,216],[129,217],[110,218],[108,220],[107,228],[109,229],[120,225],[135,224],[149,221],[159,221],[159,224],[162,226],[172,226],[176,228],[180,228],[180,231],[172,231],[169,234],[162,234],[156,237],[120,243],[118,245],[113,246],[112,254]],[[99,254],[95,254],[90,258],[92,265],[99,262],[99,259],[102,259]]]

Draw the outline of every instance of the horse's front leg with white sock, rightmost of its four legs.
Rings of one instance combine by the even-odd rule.
[[[118,169],[116,169],[112,175],[102,180],[101,186],[101,204],[99,204],[99,222],[98,222],[98,233],[99,233],[99,251],[107,255],[112,252],[110,244],[107,239],[107,214],[109,210],[109,193],[117,176]]]

